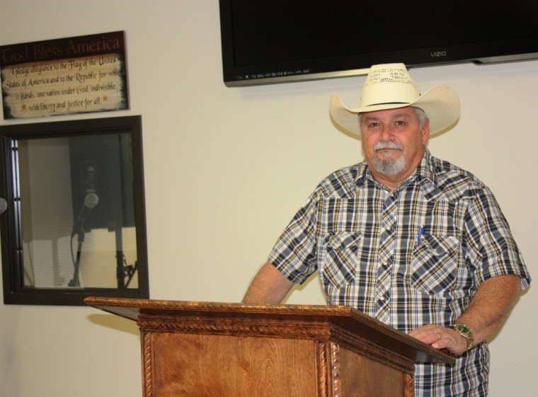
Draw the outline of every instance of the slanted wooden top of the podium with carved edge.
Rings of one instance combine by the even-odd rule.
[[[331,332],[379,345],[413,362],[454,364],[455,357],[387,326],[350,306],[252,305],[224,302],[170,301],[88,297],[88,306],[137,321],[159,318],[209,318],[212,321],[279,321],[302,329],[325,324]],[[307,332],[308,333],[308,332]],[[312,336],[314,338],[314,336]]]

